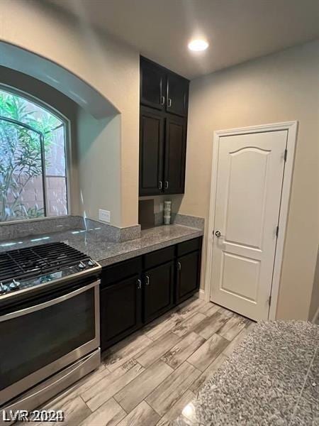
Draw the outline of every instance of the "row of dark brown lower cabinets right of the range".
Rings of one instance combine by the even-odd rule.
[[[191,239],[103,268],[102,350],[196,293],[201,242]]]

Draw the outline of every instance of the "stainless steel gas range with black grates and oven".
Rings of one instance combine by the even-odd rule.
[[[0,253],[0,410],[32,410],[99,366],[100,271],[64,243]]]

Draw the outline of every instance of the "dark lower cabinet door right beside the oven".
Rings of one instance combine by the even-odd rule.
[[[101,289],[102,350],[140,327],[141,292],[138,274]]]

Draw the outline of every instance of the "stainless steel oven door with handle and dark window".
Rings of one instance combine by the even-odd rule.
[[[99,347],[99,283],[0,314],[0,405]]]

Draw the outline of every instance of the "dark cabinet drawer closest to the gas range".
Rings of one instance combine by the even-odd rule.
[[[140,273],[142,270],[142,256],[138,256],[128,261],[115,263],[106,266],[102,270],[101,287],[111,285],[132,275]]]

